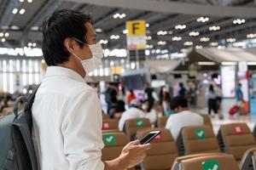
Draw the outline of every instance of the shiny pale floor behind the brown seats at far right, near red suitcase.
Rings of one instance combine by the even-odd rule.
[[[247,122],[247,125],[253,130],[253,127],[256,124],[256,116],[248,114],[247,116],[239,116],[239,114],[236,114],[234,116],[229,115],[230,108],[236,104],[235,99],[224,99],[222,102],[222,112],[224,114],[224,120],[219,120],[218,116],[215,116],[212,118],[212,125],[214,133],[218,133],[218,129],[220,125],[232,123],[232,122]],[[204,112],[207,113],[207,108],[204,110]]]

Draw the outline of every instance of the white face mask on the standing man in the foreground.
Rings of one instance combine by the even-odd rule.
[[[76,38],[74,39],[78,42],[81,42]],[[91,71],[94,71],[99,65],[102,64],[103,49],[99,42],[92,45],[88,45],[86,43],[84,44],[90,48],[92,57],[90,59],[80,59],[76,54],[73,55],[80,60],[81,64],[83,65],[84,71],[86,72],[86,75],[88,75]]]

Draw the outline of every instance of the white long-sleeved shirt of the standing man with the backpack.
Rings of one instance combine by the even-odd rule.
[[[32,106],[39,170],[102,170],[102,111],[76,71],[49,66]]]

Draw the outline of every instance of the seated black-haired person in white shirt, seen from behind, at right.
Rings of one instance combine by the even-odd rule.
[[[170,107],[175,114],[169,116],[166,128],[171,131],[174,139],[177,139],[182,127],[204,125],[204,120],[199,114],[189,111],[188,100],[183,96],[173,98]]]

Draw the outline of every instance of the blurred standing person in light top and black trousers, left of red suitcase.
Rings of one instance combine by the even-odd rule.
[[[216,105],[216,93],[214,91],[213,85],[209,86],[209,90],[207,91],[207,99],[208,99],[208,114],[212,115],[212,111],[214,114],[217,114],[217,105]],[[214,117],[214,115],[212,115]]]

